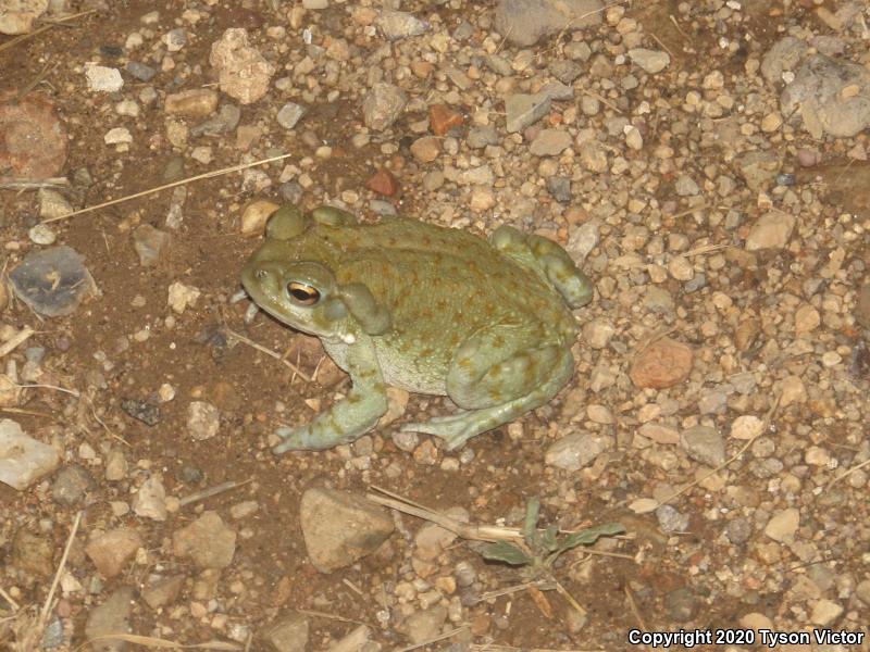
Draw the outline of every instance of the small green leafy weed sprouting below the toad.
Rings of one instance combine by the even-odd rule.
[[[538,529],[540,500],[532,498],[525,506],[525,519],[520,530],[522,542],[496,541],[482,551],[484,559],[504,562],[511,566],[527,566],[533,577],[549,575],[552,564],[563,552],[577,546],[591,546],[599,537],[609,537],[625,531],[619,523],[607,523],[588,527],[579,532],[560,535],[559,528],[550,525]]]

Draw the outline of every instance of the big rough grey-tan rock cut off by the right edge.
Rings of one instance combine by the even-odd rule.
[[[783,115],[797,114],[813,137],[857,136],[870,126],[870,70],[850,61],[813,54],[780,96]]]

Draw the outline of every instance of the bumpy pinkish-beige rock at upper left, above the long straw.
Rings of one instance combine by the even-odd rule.
[[[221,90],[243,104],[262,98],[275,74],[275,66],[248,43],[248,33],[240,27],[231,27],[212,43],[209,63],[217,71]]]

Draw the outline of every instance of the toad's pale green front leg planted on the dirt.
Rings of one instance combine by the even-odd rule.
[[[283,426],[275,430],[284,440],[272,449],[275,454],[321,451],[350,443],[374,427],[387,411],[387,394],[374,343],[369,336],[361,335],[349,346],[346,366],[353,384],[347,397],[321,412],[307,426]]]

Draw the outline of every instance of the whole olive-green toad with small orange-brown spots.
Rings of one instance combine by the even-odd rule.
[[[273,450],[323,450],[371,430],[386,387],[461,410],[401,429],[449,450],[549,401],[571,378],[571,309],[593,286],[558,244],[502,226],[486,241],[402,217],[358,224],[334,208],[286,205],[241,273],[251,299],[316,336],[350,374],[348,396]]]

